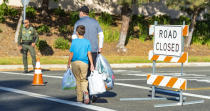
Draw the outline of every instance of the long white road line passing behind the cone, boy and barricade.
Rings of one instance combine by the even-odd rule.
[[[12,73],[12,72],[0,72],[0,73],[5,73],[5,74],[19,74],[19,75],[29,75],[29,74],[22,74],[22,73]],[[32,75],[32,74],[31,74]],[[31,76],[29,75],[29,76]],[[62,78],[61,76],[47,76],[44,75],[45,77],[52,77],[52,78]],[[197,79],[196,79],[197,80]],[[115,85],[120,85],[120,86],[127,86],[127,87],[133,87],[133,88],[138,88],[138,89],[147,89],[147,90],[151,90],[151,88],[149,87],[145,87],[145,86],[139,86],[139,85],[133,85],[133,84],[125,84],[125,83],[116,83]],[[203,98],[203,99],[210,99],[210,96],[205,96],[205,95],[198,95],[198,94],[192,94],[192,93],[183,93],[183,95],[186,96],[191,96],[191,97],[198,97],[198,98]]]

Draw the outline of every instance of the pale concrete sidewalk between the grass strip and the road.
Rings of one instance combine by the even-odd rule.
[[[180,67],[180,63],[156,63],[156,67]],[[193,62],[184,63],[184,67],[210,67],[210,62]],[[152,67],[152,63],[124,63],[124,64],[111,64],[113,69],[115,68],[147,68]],[[29,69],[32,69],[32,65],[29,65]],[[66,64],[47,64],[42,65],[42,69],[46,70],[66,70]],[[0,65],[0,71],[15,71],[23,70],[23,65]]]

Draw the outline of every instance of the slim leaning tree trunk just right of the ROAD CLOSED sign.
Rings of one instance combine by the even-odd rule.
[[[192,41],[192,36],[193,36],[193,32],[194,32],[194,29],[195,29],[195,25],[196,25],[196,18],[198,16],[198,12],[199,12],[199,8],[196,9],[193,13],[193,17],[192,17],[192,20],[191,20],[191,25],[190,25],[190,31],[189,31],[189,36],[188,36],[188,39],[187,39],[187,43],[186,43],[186,47],[189,48],[190,44],[191,44],[191,41]]]

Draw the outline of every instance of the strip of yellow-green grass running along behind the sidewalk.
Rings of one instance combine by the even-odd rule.
[[[152,63],[147,56],[105,56],[110,64],[114,63]],[[42,56],[41,64],[67,64],[68,57]],[[189,62],[210,62],[210,56],[189,56]],[[161,62],[163,63],[163,62]],[[20,65],[22,57],[1,57],[0,65]],[[28,58],[31,64],[31,58]]]

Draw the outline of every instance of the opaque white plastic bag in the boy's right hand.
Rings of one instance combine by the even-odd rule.
[[[91,72],[90,76],[88,77],[88,82],[90,95],[106,92],[103,77],[98,73],[98,71],[94,70]]]

